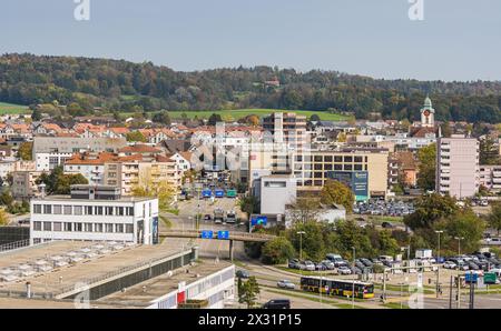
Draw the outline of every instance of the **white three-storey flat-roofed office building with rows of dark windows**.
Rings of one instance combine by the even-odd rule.
[[[118,188],[94,185],[32,199],[30,242],[52,240],[158,243],[158,199],[122,198]]]

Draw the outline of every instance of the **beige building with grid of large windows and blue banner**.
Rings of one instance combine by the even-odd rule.
[[[298,191],[320,191],[325,181],[336,179],[351,187],[357,200],[366,200],[386,195],[387,163],[386,149],[313,150],[296,153],[293,170]]]

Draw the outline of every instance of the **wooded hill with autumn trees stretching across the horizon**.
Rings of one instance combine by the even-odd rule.
[[[301,73],[269,67],[178,72],[150,62],[0,57],[0,101],[76,102],[81,112],[94,107],[120,111],[272,108],[348,111],[357,118],[380,112],[384,118],[413,120],[426,93],[440,120],[501,122],[499,81],[376,80],[336,71]]]

